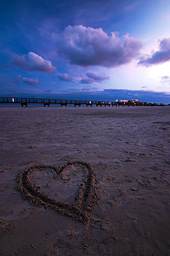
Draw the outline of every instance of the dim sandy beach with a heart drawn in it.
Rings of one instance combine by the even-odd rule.
[[[170,255],[170,107],[0,107],[0,255]]]

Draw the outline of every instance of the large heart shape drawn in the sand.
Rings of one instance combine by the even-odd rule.
[[[96,201],[95,174],[87,162],[74,161],[61,167],[34,165],[18,176],[23,199],[56,210],[86,223]]]

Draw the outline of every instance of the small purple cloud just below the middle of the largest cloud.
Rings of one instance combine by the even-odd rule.
[[[87,75],[87,77],[83,77],[80,84],[92,84],[94,82],[103,82],[103,80],[109,79],[107,73],[99,74],[94,71],[87,71],[85,75]]]

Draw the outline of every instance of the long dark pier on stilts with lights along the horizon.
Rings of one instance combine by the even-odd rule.
[[[21,104],[21,107],[28,107],[28,104],[43,104],[44,107],[50,107],[50,104],[59,104],[61,107],[67,107],[67,105],[74,105],[74,107],[85,105],[86,107],[134,107],[134,106],[166,106],[165,104],[147,103],[147,102],[119,102],[119,101],[98,101],[98,100],[58,100],[58,99],[43,99],[43,98],[19,98],[19,97],[0,97],[0,104]]]

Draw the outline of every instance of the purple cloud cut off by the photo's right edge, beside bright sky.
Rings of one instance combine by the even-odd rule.
[[[138,62],[139,65],[151,66],[156,64],[163,64],[170,60],[170,37],[164,38],[160,41],[159,50],[153,52],[151,56],[145,55],[142,60]]]

